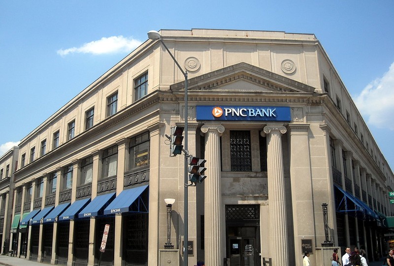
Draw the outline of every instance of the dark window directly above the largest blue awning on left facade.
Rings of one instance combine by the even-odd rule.
[[[149,132],[131,139],[129,170],[149,165]]]

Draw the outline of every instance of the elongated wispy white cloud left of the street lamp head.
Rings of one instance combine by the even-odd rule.
[[[71,47],[67,49],[60,49],[57,51],[58,55],[66,56],[73,53],[83,54],[115,54],[121,52],[131,52],[137,48],[142,42],[132,37],[127,38],[120,36],[102,37],[100,40],[91,41],[83,44],[80,47]]]

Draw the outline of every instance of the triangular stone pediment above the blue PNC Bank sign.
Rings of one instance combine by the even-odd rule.
[[[171,90],[184,88],[184,82]],[[188,80],[189,90],[314,92],[315,88],[248,63],[238,63]]]

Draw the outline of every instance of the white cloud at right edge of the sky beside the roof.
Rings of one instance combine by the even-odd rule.
[[[394,131],[394,62],[389,71],[368,84],[355,101],[368,124]]]

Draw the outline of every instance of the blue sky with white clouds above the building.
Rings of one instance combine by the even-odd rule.
[[[394,169],[394,1],[0,0],[0,156],[149,30],[314,33]]]

